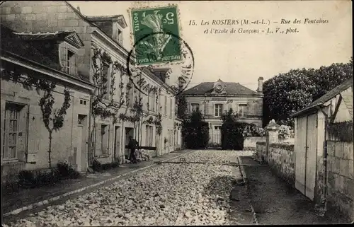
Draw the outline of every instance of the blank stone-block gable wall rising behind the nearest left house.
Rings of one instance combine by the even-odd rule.
[[[91,25],[65,1],[4,1],[0,9],[1,23],[19,33],[75,30],[84,42],[76,66],[81,69],[81,77],[89,81]]]

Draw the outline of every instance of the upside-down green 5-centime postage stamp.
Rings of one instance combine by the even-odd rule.
[[[137,65],[181,61],[177,6],[135,8],[130,13]]]

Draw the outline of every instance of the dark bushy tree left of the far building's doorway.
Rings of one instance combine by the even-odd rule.
[[[209,141],[209,124],[199,110],[183,121],[182,135],[188,149],[205,149]]]

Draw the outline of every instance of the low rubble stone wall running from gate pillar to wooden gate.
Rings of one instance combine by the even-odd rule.
[[[265,161],[283,180],[295,186],[295,153],[294,144],[269,144],[257,142],[256,158]]]

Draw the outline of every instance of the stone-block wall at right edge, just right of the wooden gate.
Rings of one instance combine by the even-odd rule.
[[[329,209],[354,219],[353,142],[327,142],[327,202]]]

